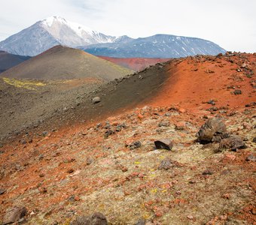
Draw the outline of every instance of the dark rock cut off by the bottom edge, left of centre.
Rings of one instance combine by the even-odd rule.
[[[106,217],[100,213],[96,212],[90,216],[80,216],[77,217],[71,225],[108,225],[108,220]]]

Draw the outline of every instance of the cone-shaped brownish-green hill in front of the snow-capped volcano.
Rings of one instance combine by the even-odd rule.
[[[54,46],[17,67],[5,71],[1,77],[41,80],[94,77],[102,80],[114,80],[130,73],[131,71],[126,68],[121,68],[79,49]]]

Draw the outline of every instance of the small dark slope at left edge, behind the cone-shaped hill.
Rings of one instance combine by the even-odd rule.
[[[0,73],[28,60],[30,56],[14,55],[5,51],[0,51]]]

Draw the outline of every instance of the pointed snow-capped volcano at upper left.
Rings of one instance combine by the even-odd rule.
[[[18,55],[38,55],[57,44],[87,46],[111,43],[115,39],[62,17],[49,17],[3,40],[0,49]]]

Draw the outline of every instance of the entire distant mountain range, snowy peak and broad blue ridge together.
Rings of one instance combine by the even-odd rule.
[[[0,49],[17,55],[38,55],[56,45],[77,47],[93,55],[117,58],[178,58],[226,52],[209,40],[156,34],[151,37],[115,37],[93,31],[62,17],[49,17],[0,42]]]

